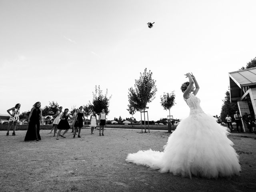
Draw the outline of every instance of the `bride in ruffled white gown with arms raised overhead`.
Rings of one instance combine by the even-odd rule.
[[[181,89],[190,115],[169,136],[163,152],[140,150],[128,154],[126,161],[190,178],[192,175],[205,178],[239,175],[239,156],[227,137],[226,128],[204,113],[196,97],[199,90],[196,78],[190,73],[186,76],[189,82],[182,84]]]

